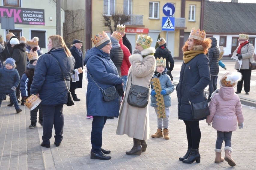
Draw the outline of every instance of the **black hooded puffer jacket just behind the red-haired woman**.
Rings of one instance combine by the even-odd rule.
[[[212,46],[208,51],[208,57],[209,57],[209,65],[210,65],[210,72],[211,76],[216,76],[219,73],[219,55],[220,55],[220,49],[217,45],[217,40],[215,37],[210,37],[212,40]]]

